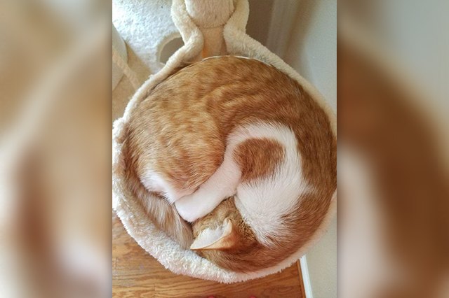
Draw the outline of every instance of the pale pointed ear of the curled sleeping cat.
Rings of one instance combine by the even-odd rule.
[[[194,240],[191,250],[225,250],[234,248],[239,241],[239,234],[232,220],[226,218],[217,229],[204,229]]]

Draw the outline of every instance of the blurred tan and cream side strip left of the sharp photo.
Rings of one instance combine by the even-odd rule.
[[[111,295],[110,7],[0,1],[0,297]]]

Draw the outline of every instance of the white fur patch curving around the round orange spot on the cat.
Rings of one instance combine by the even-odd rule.
[[[282,216],[293,211],[301,194],[311,191],[302,176],[295,134],[286,126],[257,123],[239,129],[233,140],[268,138],[281,143],[285,157],[272,176],[241,183],[236,207],[260,243],[270,245],[268,235],[284,234]]]

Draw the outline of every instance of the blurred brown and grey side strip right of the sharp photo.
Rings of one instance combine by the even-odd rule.
[[[449,297],[448,1],[339,1],[341,297]]]

